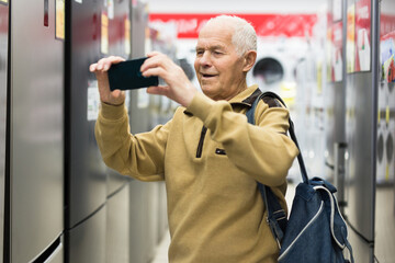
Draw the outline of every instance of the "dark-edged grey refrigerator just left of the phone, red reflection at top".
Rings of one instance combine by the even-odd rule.
[[[106,168],[94,138],[99,93],[89,65],[108,52],[104,1],[66,2],[66,262],[105,262]],[[103,26],[103,28],[102,28]]]

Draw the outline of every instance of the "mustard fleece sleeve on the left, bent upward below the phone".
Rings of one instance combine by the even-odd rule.
[[[102,103],[94,135],[108,167],[140,181],[161,181],[170,126],[171,122],[149,133],[132,135],[125,106]]]

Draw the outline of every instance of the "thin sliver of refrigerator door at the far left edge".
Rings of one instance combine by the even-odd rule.
[[[0,262],[3,262],[9,7],[0,2]]]

